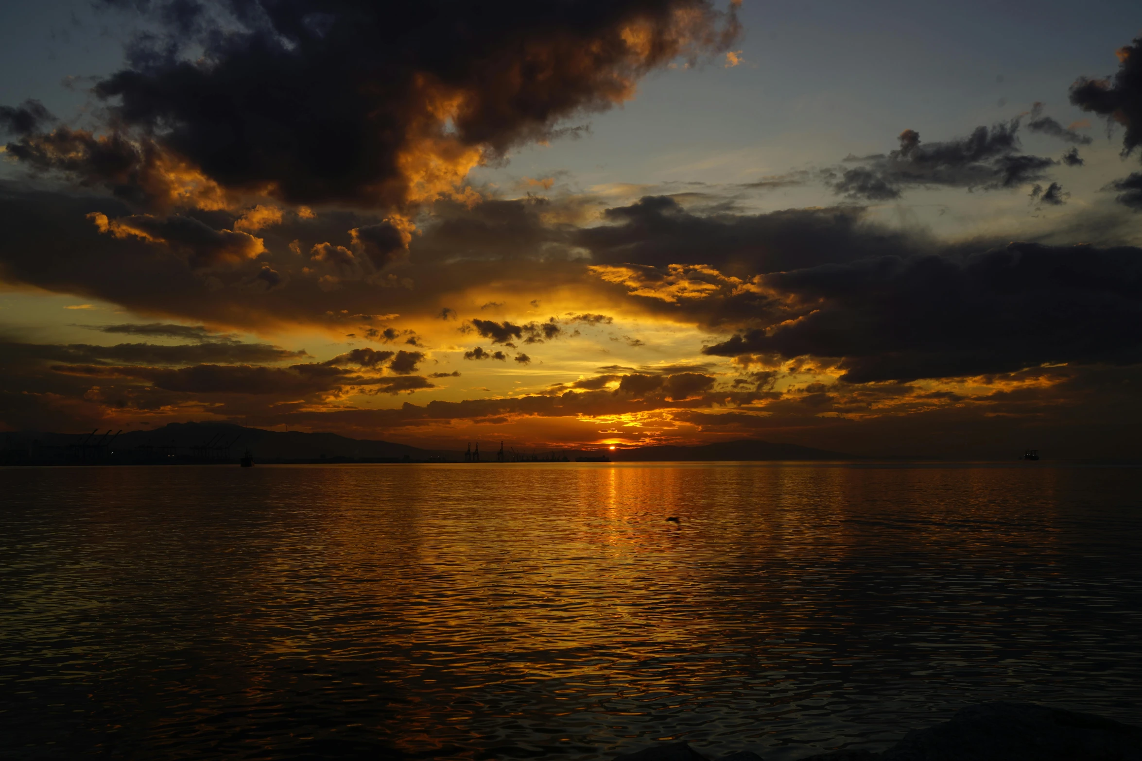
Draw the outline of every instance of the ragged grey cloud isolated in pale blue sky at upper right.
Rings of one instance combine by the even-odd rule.
[[[849,197],[892,201],[916,187],[997,189],[1043,179],[1055,162],[1021,153],[1018,132],[1018,119],[940,143],[922,143],[919,132],[907,129],[899,149],[851,157],[851,168],[838,168],[829,184]]]

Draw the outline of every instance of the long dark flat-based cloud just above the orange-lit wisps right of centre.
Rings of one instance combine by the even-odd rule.
[[[608,209],[609,225],[577,230],[596,264],[703,262],[732,273],[810,267],[868,256],[906,256],[916,236],[866,220],[864,209],[789,209],[761,214],[695,214],[668,196]]]

